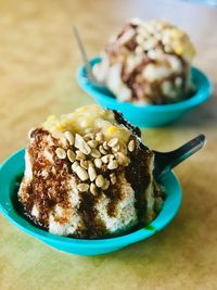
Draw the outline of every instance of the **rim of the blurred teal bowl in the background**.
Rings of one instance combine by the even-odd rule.
[[[89,61],[91,67],[95,64],[101,62],[100,56],[95,56]],[[188,110],[194,108],[207,99],[210,98],[213,92],[213,84],[209,78],[204,74],[201,70],[196,68],[195,66],[191,67],[192,78],[196,83],[196,92],[189,99],[173,103],[173,104],[135,104],[130,102],[120,102],[117,99],[111,98],[106,93],[103,93],[97,90],[91,83],[86,77],[86,67],[81,65],[77,71],[77,83],[79,87],[85,90],[88,94],[92,96],[93,99],[100,100],[102,102],[106,101],[111,104],[118,104],[123,108],[123,110],[141,110],[144,112],[170,112],[170,111],[180,111],[180,110]]]

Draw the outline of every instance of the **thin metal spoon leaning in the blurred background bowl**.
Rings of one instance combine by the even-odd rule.
[[[85,64],[86,70],[87,70],[87,78],[91,83],[91,86],[93,86],[95,89],[102,91],[103,93],[115,98],[114,93],[110,89],[107,89],[102,83],[100,83],[100,81],[98,81],[95,79],[95,77],[94,77],[94,75],[92,73],[92,68],[90,66],[90,63],[88,61],[88,56],[87,56],[87,52],[86,52],[85,46],[84,46],[84,43],[81,41],[80,35],[79,35],[78,29],[76,28],[76,26],[73,26],[73,31],[74,31],[74,36],[75,36],[76,42],[78,45],[78,48],[79,48],[84,64]]]

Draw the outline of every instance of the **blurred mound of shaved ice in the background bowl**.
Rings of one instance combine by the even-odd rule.
[[[194,46],[177,26],[135,18],[108,41],[93,74],[119,101],[175,103],[193,92],[194,55]]]

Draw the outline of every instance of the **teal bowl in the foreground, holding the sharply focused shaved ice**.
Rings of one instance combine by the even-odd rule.
[[[87,256],[117,251],[153,236],[163,229],[179,210],[181,188],[175,174],[169,172],[161,180],[166,191],[163,209],[149,226],[120,237],[98,240],[73,239],[52,235],[25,219],[18,210],[17,178],[24,174],[24,149],[15,152],[0,167],[0,212],[26,234],[63,252]]]

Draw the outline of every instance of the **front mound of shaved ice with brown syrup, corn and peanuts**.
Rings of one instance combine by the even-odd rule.
[[[119,113],[98,105],[54,115],[29,133],[18,199],[49,232],[112,237],[158,214],[163,193],[154,153]]]

